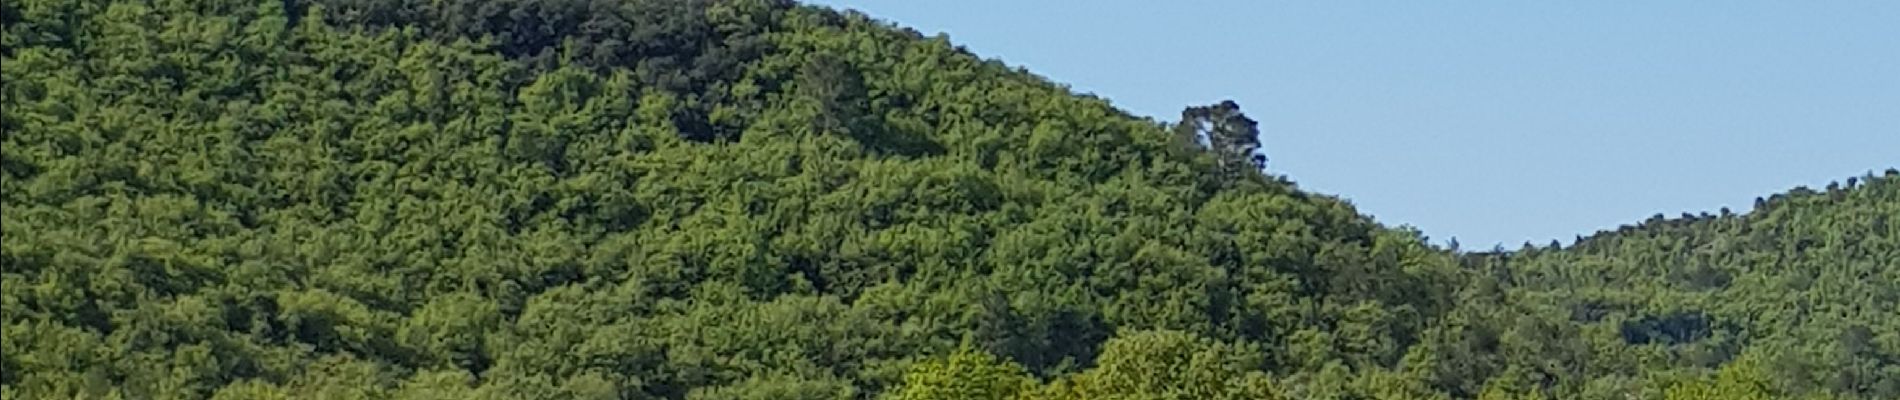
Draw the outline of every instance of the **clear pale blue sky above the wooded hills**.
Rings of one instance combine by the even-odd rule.
[[[1900,167],[1900,2],[821,0],[1117,106],[1222,99],[1267,169],[1465,248]]]

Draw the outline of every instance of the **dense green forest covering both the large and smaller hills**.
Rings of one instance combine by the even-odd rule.
[[[787,0],[0,23],[0,398],[1900,398],[1896,171],[1467,250]]]

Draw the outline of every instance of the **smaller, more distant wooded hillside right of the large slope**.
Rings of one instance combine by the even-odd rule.
[[[1465,254],[1480,275],[1440,322],[1461,328],[1438,332],[1463,347],[1444,358],[1463,368],[1436,379],[1505,372],[1607,398],[1721,370],[1721,383],[1773,398],[1896,398],[1894,222],[1889,169],[1758,199],[1748,214],[1659,214],[1569,248]]]

